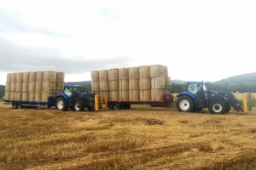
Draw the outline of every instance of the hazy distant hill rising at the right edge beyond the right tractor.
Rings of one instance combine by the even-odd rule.
[[[246,73],[246,74],[241,74],[241,75],[237,75],[237,76],[234,76],[234,77],[224,78],[224,79],[219,80],[217,82],[223,82],[223,83],[256,82],[256,72]]]

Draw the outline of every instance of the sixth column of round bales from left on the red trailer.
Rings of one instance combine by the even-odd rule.
[[[139,87],[140,87],[140,100],[150,101],[151,99],[151,78],[150,66],[139,66]]]

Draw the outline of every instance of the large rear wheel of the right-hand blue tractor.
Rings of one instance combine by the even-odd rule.
[[[188,96],[181,96],[177,98],[176,107],[177,111],[191,112],[193,110],[193,101]]]

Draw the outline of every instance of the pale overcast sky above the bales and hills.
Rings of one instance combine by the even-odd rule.
[[[8,72],[167,65],[171,79],[215,82],[256,71],[256,1],[3,0],[0,84]]]

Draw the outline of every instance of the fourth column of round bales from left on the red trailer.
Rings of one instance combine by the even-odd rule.
[[[119,69],[119,101],[129,101],[129,69]]]

